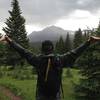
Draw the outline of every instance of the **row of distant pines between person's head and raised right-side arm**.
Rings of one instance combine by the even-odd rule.
[[[71,37],[72,34],[70,34],[69,32],[66,34],[65,39],[63,38],[63,36],[60,36],[60,38],[58,39],[58,41],[55,44],[55,52],[63,54],[63,53],[69,52],[72,49],[77,48],[82,43],[87,41],[90,33],[91,33],[90,30],[82,31],[79,28],[73,34],[73,38]]]

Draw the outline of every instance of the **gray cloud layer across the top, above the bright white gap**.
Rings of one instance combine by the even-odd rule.
[[[8,17],[12,0],[0,0],[0,21]],[[100,9],[100,0],[19,0],[27,24],[47,25],[68,16],[76,9],[91,13]]]

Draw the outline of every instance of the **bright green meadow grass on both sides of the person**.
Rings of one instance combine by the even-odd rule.
[[[80,76],[78,75],[77,70],[71,70],[71,73],[73,77],[66,78],[64,70],[63,89],[65,97],[62,100],[75,100],[73,83],[78,83]],[[35,100],[36,79],[16,80],[10,77],[3,77],[0,79],[0,84],[9,87],[15,94],[21,95],[24,98],[23,100]],[[7,99],[2,99],[2,100],[7,100]]]

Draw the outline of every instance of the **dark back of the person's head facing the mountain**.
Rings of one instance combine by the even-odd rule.
[[[49,54],[52,53],[54,49],[53,43],[50,40],[45,40],[42,42],[42,53]]]

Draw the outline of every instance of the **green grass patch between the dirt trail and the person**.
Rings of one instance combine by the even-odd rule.
[[[9,87],[15,94],[21,95],[25,100],[35,100],[35,80],[16,80],[4,77],[0,79],[0,84]]]

